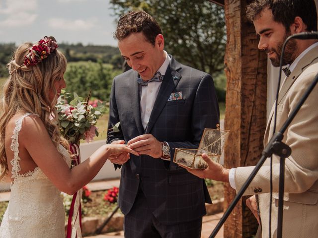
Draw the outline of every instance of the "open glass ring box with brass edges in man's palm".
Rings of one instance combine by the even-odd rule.
[[[208,164],[202,159],[207,154],[214,162],[219,163],[229,130],[205,128],[198,149],[175,148],[173,162],[190,169],[204,170]]]

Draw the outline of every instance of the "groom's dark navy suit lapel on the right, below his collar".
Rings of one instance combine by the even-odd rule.
[[[170,56],[171,57],[171,56]],[[175,87],[177,86],[181,74],[177,71],[181,68],[181,64],[178,63],[173,58],[170,61],[170,65],[167,68],[164,78],[162,80],[158,96],[156,98],[153,111],[150,115],[150,119],[146,128],[146,134],[151,131],[155,122],[157,121],[162,109],[164,108],[165,104],[167,103],[170,94],[173,92]]]

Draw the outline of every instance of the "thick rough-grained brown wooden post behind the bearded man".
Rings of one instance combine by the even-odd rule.
[[[245,17],[251,0],[225,0],[227,48],[225,72],[227,96],[225,129],[230,130],[225,149],[226,168],[255,165],[263,149],[266,127],[267,56],[257,48],[254,26]],[[236,195],[225,184],[228,208]],[[225,238],[247,238],[255,235],[258,224],[241,200],[225,223]]]

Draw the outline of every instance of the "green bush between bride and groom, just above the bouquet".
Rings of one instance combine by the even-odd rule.
[[[91,89],[91,97],[107,101],[110,95],[111,82],[121,70],[113,70],[111,65],[94,62],[70,62],[64,78],[67,92],[87,95]],[[73,99],[73,98],[72,98]]]

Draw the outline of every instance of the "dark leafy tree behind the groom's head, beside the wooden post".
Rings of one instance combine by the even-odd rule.
[[[143,9],[162,27],[165,49],[181,63],[214,74],[224,68],[224,8],[207,0],[110,0],[115,14]]]

